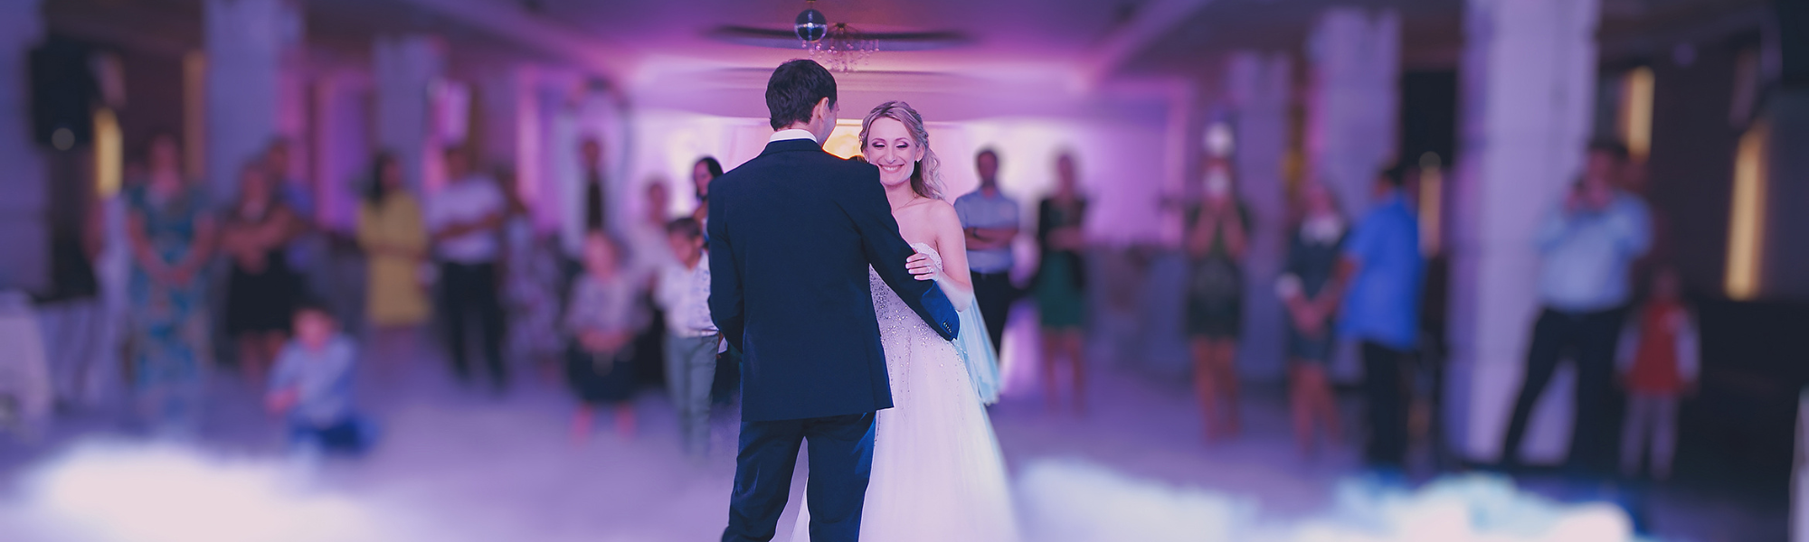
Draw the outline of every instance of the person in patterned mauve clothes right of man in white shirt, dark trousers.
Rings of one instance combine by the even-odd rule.
[[[494,179],[508,201],[503,219],[503,300],[510,322],[507,350],[512,360],[552,361],[564,349],[559,336],[559,284],[564,269],[550,242],[534,228],[517,177],[499,170]]]

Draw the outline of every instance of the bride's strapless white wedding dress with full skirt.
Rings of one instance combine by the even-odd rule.
[[[935,249],[914,246],[941,260]],[[999,441],[955,343],[870,269],[868,285],[894,406],[874,421],[861,542],[1018,542]],[[968,309],[961,318],[980,316]],[[809,502],[798,509],[792,542],[807,542]]]

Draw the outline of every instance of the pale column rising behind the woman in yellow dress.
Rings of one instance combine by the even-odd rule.
[[[429,87],[445,70],[445,47],[431,36],[378,36],[371,45],[376,76],[376,145],[396,154],[409,186],[423,188],[429,159]]]

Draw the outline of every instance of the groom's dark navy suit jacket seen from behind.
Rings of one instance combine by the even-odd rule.
[[[879,170],[814,141],[769,143],[709,184],[709,313],[742,350],[742,419],[778,421],[892,408],[867,266],[932,329],[961,320],[904,269]]]

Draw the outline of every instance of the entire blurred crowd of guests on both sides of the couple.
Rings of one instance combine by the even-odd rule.
[[[447,370],[472,392],[508,394],[521,374],[563,381],[575,405],[573,439],[593,430],[599,412],[631,437],[631,399],[664,387],[682,448],[709,453],[711,414],[733,410],[738,387],[734,352],[707,309],[704,202],[724,172],[716,159],[695,161],[695,211],[673,217],[660,179],[624,192],[637,204],[611,202],[602,143],[584,139],[584,233],[561,242],[535,224],[508,173],[488,173],[459,146],[440,152],[447,182],[432,192],[405,182],[398,159],[378,154],[356,226],[331,229],[320,220],[322,192],[288,173],[289,152],[286,141],[270,143],[242,164],[230,197],[183,173],[174,134],[156,132],[130,155],[123,188],[92,202],[83,235],[58,238],[60,287],[36,304],[60,406],[130,403],[145,428],[185,434],[195,428],[206,379],[235,374],[268,388],[266,406],[295,443],[362,450],[374,430],[355,406],[353,381],[396,385],[403,360],[420,356],[411,345],[438,338]],[[1100,300],[1089,289],[1111,287],[1093,275],[1136,255],[1089,244],[1075,155],[1056,157],[1035,217],[1000,190],[1000,159],[980,150],[979,188],[955,199],[986,329],[1002,345],[1013,305],[1033,302],[1035,343],[1020,347],[1035,347],[1042,397],[1051,412],[1085,412],[1087,338],[1102,314],[1089,307]],[[1234,172],[1225,157],[1205,159],[1189,195],[1163,204],[1181,215],[1181,244],[1156,249],[1187,260],[1172,294],[1185,300],[1176,316],[1207,441],[1241,432],[1239,343],[1245,298],[1255,291],[1246,284],[1254,217]],[[1532,406],[1568,360],[1577,374],[1572,466],[1670,473],[1697,340],[1677,273],[1653,249],[1662,238],[1637,177],[1624,146],[1592,145],[1586,172],[1538,226],[1541,313],[1530,322],[1503,468],[1518,466]],[[1422,251],[1416,168],[1378,172],[1373,186],[1373,204],[1348,215],[1322,179],[1293,182],[1284,266],[1272,287],[1284,307],[1286,396],[1301,453],[1359,434],[1369,464],[1398,472],[1413,443],[1438,439],[1444,260]],[[619,210],[640,215],[611,217]],[[1020,266],[1022,253],[1037,260]],[[1330,369],[1340,350],[1362,367],[1351,387],[1364,401],[1360,432],[1342,426],[1353,417],[1340,412]]]

